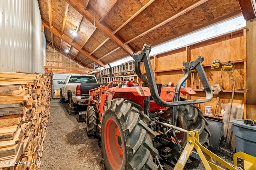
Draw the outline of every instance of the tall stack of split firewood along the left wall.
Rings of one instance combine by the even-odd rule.
[[[0,170],[40,168],[51,77],[0,72]]]

